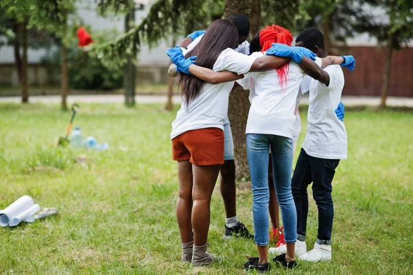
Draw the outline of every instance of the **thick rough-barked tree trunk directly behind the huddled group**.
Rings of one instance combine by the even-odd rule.
[[[251,20],[250,34],[253,35],[260,30],[261,0],[226,0],[224,17],[228,18],[235,13],[244,14]],[[242,179],[249,174],[245,136],[249,106],[248,92],[242,88],[233,90],[229,95],[228,116],[233,133],[237,179]]]

